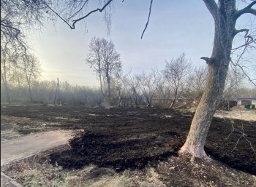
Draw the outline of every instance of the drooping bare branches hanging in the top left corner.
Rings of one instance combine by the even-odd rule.
[[[45,1],[1,1],[1,47],[26,52],[25,33],[42,23]]]

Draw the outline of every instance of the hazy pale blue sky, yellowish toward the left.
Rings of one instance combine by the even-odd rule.
[[[34,31],[28,37],[32,52],[42,64],[42,79],[59,77],[71,84],[98,86],[94,71],[85,63],[94,36],[113,41],[121,55],[124,73],[163,69],[165,60],[182,52],[193,65],[205,64],[200,57],[211,56],[214,22],[203,1],[155,0],[148,28],[140,39],[149,4],[150,0],[115,1],[109,36],[99,12],[88,17],[86,28],[78,23],[75,30],[61,20],[55,26],[45,21],[42,31]]]

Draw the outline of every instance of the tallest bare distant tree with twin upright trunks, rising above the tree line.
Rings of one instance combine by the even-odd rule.
[[[86,63],[97,73],[102,95],[105,99],[108,98],[109,103],[111,97],[111,78],[113,76],[118,77],[121,73],[120,55],[116,52],[113,42],[106,39],[96,39],[94,37],[89,44],[89,48],[90,53],[86,58]],[[103,92],[102,82],[106,84],[107,94]]]

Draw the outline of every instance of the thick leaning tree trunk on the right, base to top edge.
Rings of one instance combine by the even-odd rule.
[[[211,7],[208,7],[208,9]],[[233,1],[221,1],[219,11],[214,13],[215,33],[214,48],[211,58],[202,57],[208,64],[208,78],[206,89],[200,100],[189,130],[187,140],[179,151],[180,154],[189,153],[199,158],[207,158],[204,151],[206,136],[214,116],[219,100],[222,98],[225,80],[230,63],[233,33],[236,21],[232,18]],[[213,14],[213,12],[211,12]]]

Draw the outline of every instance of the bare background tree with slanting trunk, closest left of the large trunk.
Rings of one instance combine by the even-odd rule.
[[[165,62],[165,79],[173,89],[173,102],[170,104],[170,108],[174,106],[176,99],[184,91],[184,80],[191,72],[191,67],[191,63],[186,59],[185,53],[176,59],[170,60],[170,62]]]

